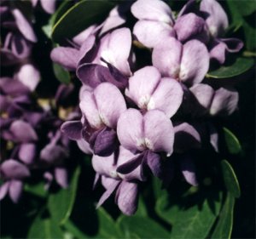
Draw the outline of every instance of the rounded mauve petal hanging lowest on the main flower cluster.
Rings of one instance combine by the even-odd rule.
[[[119,185],[119,196],[117,199],[119,209],[126,215],[132,215],[137,211],[138,185],[123,181]]]

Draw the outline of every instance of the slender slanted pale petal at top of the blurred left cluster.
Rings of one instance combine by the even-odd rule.
[[[32,26],[30,25],[28,20],[26,20],[24,15],[20,12],[20,10],[14,9],[12,11],[12,13],[15,17],[15,23],[16,23],[18,29],[20,30],[20,32],[22,33],[22,35],[27,40],[31,41],[32,43],[36,43],[38,41],[38,39],[37,39],[34,31],[32,30]]]

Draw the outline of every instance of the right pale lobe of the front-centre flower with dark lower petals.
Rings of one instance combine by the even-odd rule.
[[[165,151],[170,156],[173,151],[174,129],[172,122],[162,111],[148,111],[143,118],[145,143],[154,152]]]

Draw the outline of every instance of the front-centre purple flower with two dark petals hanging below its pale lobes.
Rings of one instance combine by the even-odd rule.
[[[127,174],[142,165],[143,177],[145,168],[150,168],[155,176],[160,177],[162,168],[159,153],[171,156],[174,142],[172,122],[165,113],[153,110],[142,115],[140,111],[128,109],[119,117],[117,134],[125,149],[139,153],[137,157],[120,165],[118,172]]]

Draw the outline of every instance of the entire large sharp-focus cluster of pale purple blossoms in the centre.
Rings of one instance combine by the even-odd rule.
[[[126,27],[129,13],[137,19],[133,29]],[[224,38],[228,26],[215,0],[202,0],[199,8],[190,0],[177,17],[160,0],[138,0],[119,4],[101,25],[53,49],[51,59],[76,71],[82,83],[82,117],[61,130],[92,154],[95,184],[106,189],[97,207],[114,194],[123,213],[135,213],[139,185],[150,174],[168,185],[174,158],[184,179],[198,184],[191,151],[202,140],[218,151],[211,119],[229,116],[238,102],[234,88],[205,80],[213,61],[223,64],[243,46]],[[137,46],[150,60],[138,60]]]

